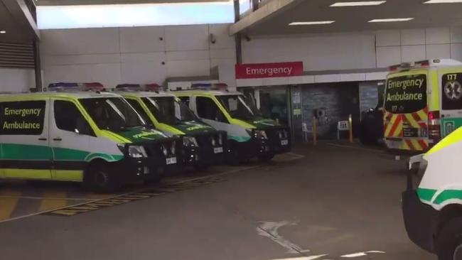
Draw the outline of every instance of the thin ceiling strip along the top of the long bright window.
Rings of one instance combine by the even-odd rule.
[[[226,0],[38,0],[38,6],[70,6],[87,4],[160,4],[160,3],[193,3],[223,2]]]

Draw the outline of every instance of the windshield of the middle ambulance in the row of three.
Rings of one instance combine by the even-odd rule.
[[[159,123],[178,124],[197,119],[189,107],[177,97],[143,97],[142,100]]]

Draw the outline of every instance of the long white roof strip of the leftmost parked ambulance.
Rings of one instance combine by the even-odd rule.
[[[25,100],[25,99],[43,99],[47,97],[66,97],[76,99],[88,99],[98,97],[121,97],[119,94],[109,92],[36,92],[36,93],[5,93],[0,94],[1,100]]]

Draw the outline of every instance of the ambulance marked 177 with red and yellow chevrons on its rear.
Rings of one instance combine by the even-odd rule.
[[[421,152],[462,126],[462,63],[422,60],[390,67],[385,85],[387,148]]]

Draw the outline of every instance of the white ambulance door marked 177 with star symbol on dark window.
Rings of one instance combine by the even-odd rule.
[[[462,126],[462,67],[439,70],[441,137]]]

